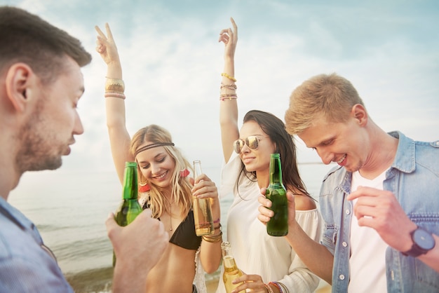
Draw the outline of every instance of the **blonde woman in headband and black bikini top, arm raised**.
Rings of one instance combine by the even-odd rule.
[[[130,138],[125,124],[126,96],[119,53],[109,25],[105,27],[107,34],[96,27],[96,50],[107,64],[107,127],[117,175],[122,183],[125,162],[138,163],[140,202],[144,209],[151,209],[153,217],[163,222],[170,236],[158,264],[144,276],[147,278],[145,292],[207,292],[205,272],[217,271],[222,258],[217,187],[206,175],[195,178],[194,186],[194,179],[187,177],[191,165],[164,128],[149,125]],[[213,235],[196,236],[193,195],[212,198]]]

